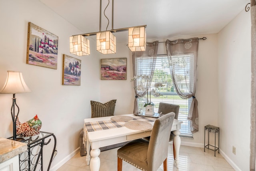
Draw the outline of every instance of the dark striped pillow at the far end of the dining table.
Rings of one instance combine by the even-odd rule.
[[[107,103],[91,101],[92,117],[114,116],[116,100],[110,100]]]

